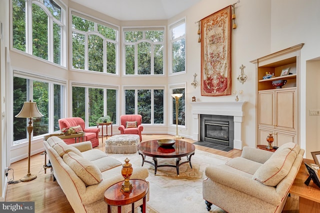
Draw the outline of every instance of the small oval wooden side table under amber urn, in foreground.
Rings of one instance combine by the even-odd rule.
[[[107,204],[107,213],[111,213],[111,206],[117,206],[118,213],[121,213],[121,206],[131,204],[132,213],[134,212],[134,203],[143,199],[143,204],[140,206],[142,213],[146,209],[146,194],[148,193],[148,184],[143,180],[132,179],[131,192],[123,192],[121,186],[124,181],[113,184],[104,192],[104,202]]]

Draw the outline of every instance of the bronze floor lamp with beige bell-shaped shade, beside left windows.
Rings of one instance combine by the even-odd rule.
[[[32,118],[42,117],[43,115],[39,112],[36,103],[31,102],[24,102],[21,111],[15,116],[16,118],[29,118],[29,126],[26,127],[29,133],[29,144],[28,144],[28,173],[26,176],[20,179],[22,182],[32,181],[36,179],[36,175],[31,175],[30,173],[30,147],[31,147],[31,133],[33,130]]]

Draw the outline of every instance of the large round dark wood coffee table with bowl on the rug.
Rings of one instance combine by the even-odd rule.
[[[194,155],[195,147],[185,141],[176,140],[173,146],[159,146],[157,140],[145,141],[138,145],[138,153],[142,157],[143,163],[148,163],[154,166],[154,175],[158,167],[175,167],[176,174],[179,175],[179,166],[189,163],[191,165],[191,156]],[[145,156],[152,157],[154,163],[145,160]],[[187,161],[180,163],[181,157],[186,156]],[[176,158],[175,165],[158,165],[157,158]]]

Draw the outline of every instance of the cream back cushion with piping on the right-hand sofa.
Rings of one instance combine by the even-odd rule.
[[[275,187],[290,171],[296,158],[298,145],[286,143],[254,173],[253,180],[266,186]]]

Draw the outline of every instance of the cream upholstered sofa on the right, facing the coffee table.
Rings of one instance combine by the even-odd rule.
[[[228,213],[281,213],[304,150],[294,143],[274,153],[243,147],[241,157],[207,167],[203,199]]]

